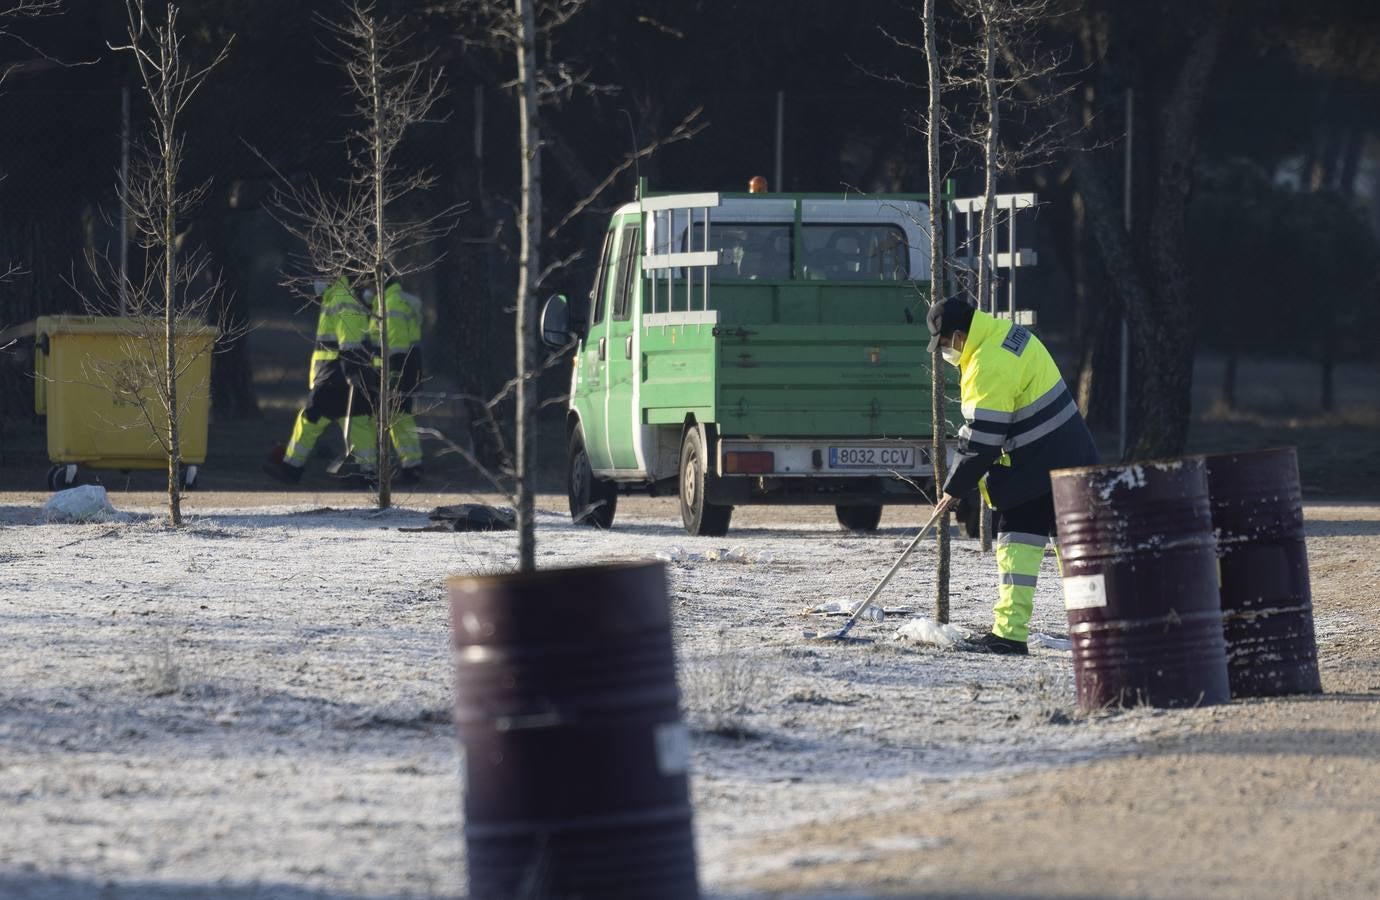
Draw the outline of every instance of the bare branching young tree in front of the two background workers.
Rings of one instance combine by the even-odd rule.
[[[431,171],[407,170],[397,162],[408,133],[435,121],[432,110],[444,95],[431,54],[410,57],[413,36],[404,22],[381,17],[373,3],[353,3],[342,21],[320,22],[331,35],[328,52],[345,72],[355,104],[355,124],[345,139],[349,174],[334,190],[313,178],[304,184],[282,178],[273,206],[306,248],[299,261],[304,272],[290,276],[290,284],[308,293],[306,286],[323,275],[345,275],[355,290],[373,293],[370,316],[381,363],[377,396],[368,399],[378,442],[377,501],[386,509],[392,505],[391,431],[402,411],[391,371],[386,287],[436,265],[440,255],[429,250],[454,228],[462,207],[411,218],[403,214],[436,184]]]

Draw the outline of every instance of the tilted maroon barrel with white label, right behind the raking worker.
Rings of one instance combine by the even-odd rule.
[[[1227,703],[1202,457],[1052,472],[1078,704]]]

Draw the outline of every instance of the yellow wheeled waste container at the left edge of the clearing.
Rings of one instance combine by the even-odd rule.
[[[217,330],[199,322],[177,329],[177,409],[185,487],[206,462],[211,406],[211,351]],[[161,319],[41,316],[34,323],[34,409],[48,418],[48,487],[94,469],[160,469],[167,411],[157,384],[167,341]],[[157,432],[155,432],[155,428]]]

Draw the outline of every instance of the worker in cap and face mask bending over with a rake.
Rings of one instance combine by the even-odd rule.
[[[978,486],[994,509],[996,607],[992,629],[969,642],[985,653],[1027,653],[1045,545],[1054,537],[1050,469],[1097,462],[1097,446],[1058,366],[1029,329],[960,298],[930,306],[930,352],[959,369],[963,427],[944,498]],[[1058,552],[1058,548],[1054,548]]]

